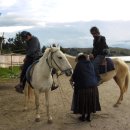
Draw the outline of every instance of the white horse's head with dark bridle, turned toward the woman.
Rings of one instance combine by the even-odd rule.
[[[50,68],[60,70],[66,76],[72,74],[72,67],[59,46],[47,48],[45,53],[48,53],[46,61]]]

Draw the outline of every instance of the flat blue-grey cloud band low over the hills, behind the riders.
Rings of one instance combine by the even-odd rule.
[[[69,26],[66,26],[69,25]],[[106,37],[108,45],[111,47],[130,48],[130,21],[91,21],[73,23],[49,23],[46,26],[15,26],[1,27],[5,31],[5,38],[15,37],[15,34],[27,30],[40,40],[41,46],[59,43],[62,47],[92,47],[93,37],[89,29],[92,26],[100,29],[101,35]],[[9,33],[8,33],[9,32]]]

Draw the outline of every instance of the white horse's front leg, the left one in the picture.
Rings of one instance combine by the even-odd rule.
[[[39,91],[34,90],[35,94],[35,105],[36,105],[36,118],[35,121],[39,122],[40,121],[40,114],[39,114]]]

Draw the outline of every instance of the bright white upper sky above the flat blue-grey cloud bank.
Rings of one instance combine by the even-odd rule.
[[[48,23],[130,20],[129,0],[0,0],[0,33]]]

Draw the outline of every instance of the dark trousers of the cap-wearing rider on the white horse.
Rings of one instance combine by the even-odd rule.
[[[34,62],[34,58],[33,57],[26,57],[23,67],[22,67],[22,72],[20,75],[20,83],[21,83],[21,87],[24,89],[25,87],[25,83],[26,83],[26,71],[28,69],[28,67]]]

